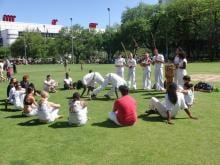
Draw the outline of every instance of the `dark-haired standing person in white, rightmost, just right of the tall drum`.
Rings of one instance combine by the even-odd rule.
[[[177,69],[177,85],[180,87],[183,87],[184,81],[183,77],[187,75],[186,66],[187,66],[187,60],[186,55],[184,52],[179,54],[180,62]]]

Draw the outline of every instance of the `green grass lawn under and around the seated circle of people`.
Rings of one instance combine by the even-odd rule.
[[[220,63],[192,63],[189,74],[220,74]],[[114,72],[113,65],[70,66],[73,80],[81,79],[89,69],[101,74]],[[18,80],[29,74],[31,82],[42,89],[47,74],[60,82],[63,65],[18,66]],[[153,79],[153,77],[152,77]],[[142,70],[137,69],[138,87],[142,86]],[[0,84],[0,99],[6,98],[7,83]],[[220,82],[217,83],[220,86]],[[83,127],[68,127],[68,97],[74,91],[59,90],[50,100],[60,103],[64,118],[51,124],[38,124],[36,117],[21,117],[20,111],[5,110],[0,104],[0,165],[33,164],[220,164],[220,93],[196,92],[192,108],[199,120],[190,120],[180,112],[174,125],[167,125],[158,116],[146,117],[144,111],[152,96],[164,94],[138,90],[131,95],[138,103],[138,122],[132,127],[116,127],[107,120],[115,97],[105,101],[88,101],[89,122]],[[81,91],[80,91],[81,92]],[[87,98],[85,98],[87,100]],[[12,106],[10,108],[13,108]]]

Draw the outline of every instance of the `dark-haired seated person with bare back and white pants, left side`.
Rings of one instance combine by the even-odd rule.
[[[38,105],[34,98],[34,88],[28,87],[24,98],[24,109],[22,114],[25,116],[37,115]]]

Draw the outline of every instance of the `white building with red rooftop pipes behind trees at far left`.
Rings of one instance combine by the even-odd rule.
[[[0,21],[0,45],[4,47],[10,46],[25,31],[36,31],[43,35],[53,37],[59,33],[62,25],[57,25],[56,19],[51,24],[36,24],[15,22],[15,16],[4,15],[3,21]]]

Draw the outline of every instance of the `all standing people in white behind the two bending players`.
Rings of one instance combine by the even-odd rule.
[[[148,52],[145,53],[144,58],[140,61],[140,66],[143,68],[143,81],[142,81],[142,89],[150,90],[155,88],[158,91],[164,91],[164,74],[163,68],[165,59],[162,54],[158,53],[157,49],[153,51],[154,56],[150,58],[150,54]],[[174,58],[173,64],[175,65],[175,75],[174,75],[174,82],[177,86],[183,87],[183,77],[187,75],[186,66],[186,54],[182,48],[178,47],[176,49],[176,56]],[[151,65],[154,65],[154,78],[155,84],[152,86],[151,83]],[[121,55],[115,59],[115,67],[116,67],[116,74],[125,79],[124,71],[125,67],[128,67],[128,76],[127,76],[127,84],[129,89],[137,89],[136,83],[136,67],[137,62],[135,58],[133,58],[132,53],[128,55],[127,62],[125,58]]]

